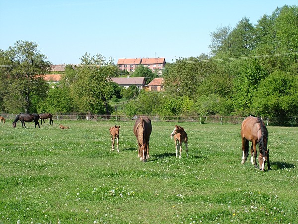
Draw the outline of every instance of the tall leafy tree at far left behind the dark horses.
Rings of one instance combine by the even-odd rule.
[[[2,52],[3,54],[3,52]],[[46,56],[40,54],[38,45],[32,41],[16,41],[4,52],[12,67],[5,69],[7,89],[3,105],[7,112],[36,112],[36,102],[43,101],[49,89],[43,75],[50,69]],[[3,72],[3,71],[1,71]]]

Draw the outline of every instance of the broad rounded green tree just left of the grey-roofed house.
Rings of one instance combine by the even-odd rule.
[[[115,85],[109,77],[119,76],[120,70],[114,60],[100,54],[85,53],[75,72],[66,70],[64,82],[70,87],[71,97],[78,112],[110,114],[108,100],[115,93]]]

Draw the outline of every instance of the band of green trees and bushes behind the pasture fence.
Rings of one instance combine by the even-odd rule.
[[[235,27],[211,32],[210,55],[178,58],[162,71],[163,92],[127,90],[112,58],[84,54],[51,88],[43,79],[51,63],[31,41],[0,50],[0,111],[92,112],[126,115],[298,114],[298,7],[284,5],[256,24],[243,17]],[[139,66],[131,76],[157,73]]]

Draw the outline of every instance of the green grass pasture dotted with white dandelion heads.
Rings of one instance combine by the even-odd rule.
[[[189,159],[177,159],[175,123],[152,122],[141,162],[133,121],[48,122],[0,124],[0,224],[298,223],[297,127],[268,126],[272,170],[262,172],[241,165],[240,124],[180,123]]]

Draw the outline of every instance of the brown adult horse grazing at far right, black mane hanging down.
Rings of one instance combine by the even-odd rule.
[[[265,162],[267,160],[268,170],[270,170],[269,162],[269,149],[268,143],[268,130],[261,117],[249,116],[245,118],[241,124],[241,138],[242,138],[242,164],[246,161],[249,151],[249,142],[252,142],[250,148],[250,162],[256,168],[257,165],[257,149],[256,145],[259,144],[259,164],[260,170],[264,171]]]

